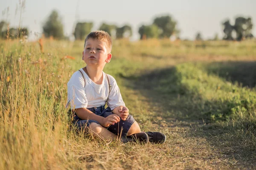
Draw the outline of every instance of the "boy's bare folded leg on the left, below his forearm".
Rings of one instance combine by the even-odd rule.
[[[89,130],[91,131],[93,137],[105,140],[111,139],[112,141],[116,139],[116,135],[114,133],[97,123],[90,123]]]

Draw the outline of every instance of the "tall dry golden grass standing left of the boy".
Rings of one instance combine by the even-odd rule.
[[[62,77],[68,72],[65,62],[54,54],[42,56],[35,43],[16,47],[10,42],[1,49],[6,57],[1,57],[0,169],[47,167],[66,136]]]

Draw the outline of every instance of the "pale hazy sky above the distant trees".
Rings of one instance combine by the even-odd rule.
[[[93,22],[97,30],[102,22],[123,26],[130,24],[132,40],[138,40],[142,24],[151,24],[155,17],[169,14],[177,21],[182,39],[193,40],[201,32],[204,39],[217,33],[224,36],[221,23],[235,17],[252,17],[253,35],[256,36],[256,0],[25,0],[21,15],[22,0],[0,0],[0,20],[7,20],[11,27],[28,27],[30,39],[42,33],[42,26],[53,9],[56,9],[64,24],[64,34],[70,36],[77,21]],[[9,8],[8,13],[7,8]],[[17,10],[18,9],[18,10]]]

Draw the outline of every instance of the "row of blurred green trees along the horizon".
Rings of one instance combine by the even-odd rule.
[[[17,28],[7,29],[7,23],[5,21],[0,22],[0,37],[6,38],[8,35],[12,37],[28,36],[29,32],[27,28],[20,28],[17,32]],[[253,38],[252,28],[253,23],[250,17],[236,17],[235,24],[231,25],[230,20],[226,20],[221,23],[223,26],[224,37],[223,40],[244,40]],[[78,22],[73,31],[73,35],[76,40],[84,40],[87,34],[91,32],[93,28],[92,22]],[[9,31],[8,31],[9,30]],[[99,30],[108,32],[111,37],[116,39],[129,38],[132,36],[132,28],[129,24],[123,26],[116,26],[114,24],[102,23],[99,26]],[[43,33],[45,37],[53,37],[55,39],[64,38],[64,29],[60,15],[58,11],[53,10],[43,25]],[[142,25],[138,29],[140,39],[148,38],[170,38],[175,35],[179,39],[180,30],[177,28],[177,21],[171,15],[165,15],[155,17],[151,24]],[[203,40],[202,35],[198,32],[195,36],[195,40]],[[213,40],[218,40],[216,34]]]

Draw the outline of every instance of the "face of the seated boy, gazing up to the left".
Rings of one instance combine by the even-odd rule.
[[[87,65],[104,67],[107,62],[110,62],[111,57],[105,42],[91,38],[85,42],[82,60],[84,60]]]

